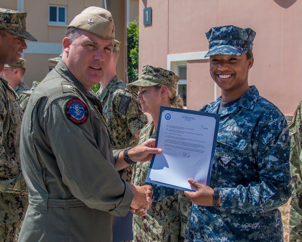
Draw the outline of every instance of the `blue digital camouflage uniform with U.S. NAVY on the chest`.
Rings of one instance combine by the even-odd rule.
[[[221,96],[200,111],[217,113]],[[185,241],[283,241],[277,209],[291,196],[288,127],[252,86],[221,113],[210,187],[220,207],[192,206]],[[153,199],[177,192],[152,185]]]

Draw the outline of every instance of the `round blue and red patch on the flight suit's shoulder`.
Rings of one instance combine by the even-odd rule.
[[[83,124],[88,119],[88,108],[86,104],[76,98],[72,98],[64,103],[63,106],[67,118],[76,124]]]

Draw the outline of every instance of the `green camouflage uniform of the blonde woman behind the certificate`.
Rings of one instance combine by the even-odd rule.
[[[149,138],[156,138],[153,122],[140,132],[139,144]],[[133,185],[142,186],[151,161],[133,165]],[[133,216],[133,241],[184,241],[185,227],[191,210],[191,201],[180,192],[161,201],[152,202],[145,217]]]

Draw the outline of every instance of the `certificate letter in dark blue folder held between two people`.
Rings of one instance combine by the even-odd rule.
[[[209,185],[220,115],[161,106],[146,182],[196,191],[188,178]]]

